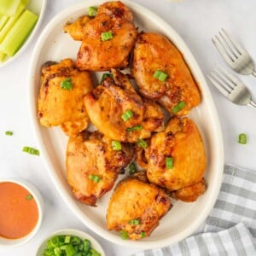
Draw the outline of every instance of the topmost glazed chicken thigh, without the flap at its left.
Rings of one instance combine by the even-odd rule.
[[[102,41],[102,32],[112,32],[113,38]],[[85,23],[83,33],[76,62],[79,69],[104,71],[128,66],[137,29],[131,10],[124,3],[100,5],[96,17]]]

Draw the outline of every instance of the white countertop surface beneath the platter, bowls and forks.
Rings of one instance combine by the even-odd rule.
[[[48,1],[44,26],[54,15],[75,0]],[[183,38],[195,59],[207,75],[215,63],[226,67],[214,49],[211,38],[221,27],[230,32],[253,56],[256,61],[256,2],[254,0],[183,0],[172,3],[164,0],[134,0],[153,10],[166,20]],[[87,231],[101,242],[108,256],[125,256],[136,249],[117,246],[89,230],[68,209],[57,193],[40,157],[22,153],[25,145],[38,148],[32,136],[31,120],[28,109],[28,84],[26,74],[32,49],[30,47],[14,63],[0,68],[0,178],[20,177],[35,184],[44,197],[44,220],[38,234],[20,247],[0,248],[0,255],[30,256],[35,252],[50,232],[64,228],[77,228]],[[239,76],[252,91],[256,101],[256,79]],[[212,84],[208,83],[223,131],[225,162],[246,167],[256,172],[256,111],[249,107],[240,107],[228,102]],[[14,136],[5,136],[5,131],[14,131]],[[237,143],[239,133],[247,134],[247,144]]]

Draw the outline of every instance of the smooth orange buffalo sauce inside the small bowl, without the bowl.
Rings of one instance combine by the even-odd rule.
[[[17,183],[0,183],[0,236],[26,236],[37,222],[38,205],[31,193]]]

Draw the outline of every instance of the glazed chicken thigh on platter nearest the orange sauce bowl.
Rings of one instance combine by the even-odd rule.
[[[121,169],[132,159],[132,149],[122,143],[113,150],[111,140],[100,132],[84,131],[67,143],[67,181],[73,195],[84,204],[96,206],[98,198],[113,188]],[[94,181],[92,177],[99,177]]]

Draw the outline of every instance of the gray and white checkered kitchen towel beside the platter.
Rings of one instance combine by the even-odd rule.
[[[256,171],[224,166],[218,200],[203,233],[131,256],[256,256]]]

